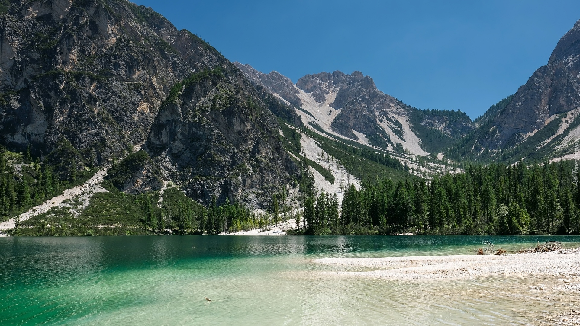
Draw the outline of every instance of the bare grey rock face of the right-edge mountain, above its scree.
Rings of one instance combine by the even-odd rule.
[[[548,64],[538,68],[480,142],[490,149],[513,147],[542,129],[554,114],[580,107],[580,20],[558,42]]]

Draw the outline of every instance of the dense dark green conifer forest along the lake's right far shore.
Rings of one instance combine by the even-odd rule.
[[[320,198],[324,197],[324,198]],[[328,197],[328,199],[327,199]],[[307,234],[579,234],[580,191],[570,161],[469,165],[465,172],[394,184],[367,178],[338,205],[305,201]],[[323,207],[323,208],[322,208]]]

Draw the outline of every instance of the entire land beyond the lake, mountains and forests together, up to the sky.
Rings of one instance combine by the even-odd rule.
[[[13,0],[2,10],[0,229],[219,234],[316,210],[317,234],[578,231],[565,201],[580,195],[562,171],[580,137],[580,21],[546,66],[472,120],[405,104],[360,71],[294,83],[231,63],[125,0]],[[550,173],[560,180],[541,209],[561,225],[526,229],[525,209],[536,211],[519,187],[532,193],[538,162],[544,184]],[[59,205],[47,207],[51,198]],[[517,227],[500,225],[508,211]]]

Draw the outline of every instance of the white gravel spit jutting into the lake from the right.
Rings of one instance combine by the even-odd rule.
[[[317,263],[342,265],[367,271],[345,271],[330,274],[352,276],[437,279],[467,278],[498,274],[545,274],[574,280],[580,276],[580,248],[547,253],[516,253],[483,256],[408,256],[391,258],[324,258]],[[572,285],[566,282],[565,285]]]

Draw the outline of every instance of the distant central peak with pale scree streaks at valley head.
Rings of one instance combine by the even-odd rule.
[[[292,85],[276,71],[260,73],[234,63],[253,84],[263,85],[282,102],[298,110],[304,124],[327,135],[346,137],[389,151],[427,155],[438,153],[475,126],[460,111],[417,110],[380,92],[360,71],[306,75]]]

